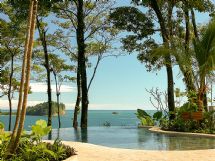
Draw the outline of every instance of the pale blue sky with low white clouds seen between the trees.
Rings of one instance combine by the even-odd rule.
[[[129,0],[118,0],[117,5],[129,5]],[[207,14],[197,13],[197,23],[207,23]],[[157,40],[160,38],[157,36]],[[114,44],[113,44],[114,45]],[[123,52],[123,51],[122,51]],[[177,66],[173,67],[175,88],[184,90],[182,76]],[[88,69],[88,78],[92,68]],[[89,110],[144,110],[155,109],[150,103],[150,94],[146,89],[158,87],[160,91],[167,88],[166,70],[147,72],[145,65],[137,60],[135,53],[118,58],[105,58],[96,73],[89,91]],[[47,100],[45,82],[31,82],[32,94],[29,95],[28,105],[32,106]],[[55,86],[52,82],[52,96],[55,97]],[[60,100],[66,109],[73,109],[76,101],[76,84],[65,83],[61,88]],[[15,94],[13,109],[16,109],[18,96]],[[0,99],[0,109],[8,109],[7,97]]]

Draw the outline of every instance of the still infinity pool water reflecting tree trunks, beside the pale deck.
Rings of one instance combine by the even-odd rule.
[[[137,127],[89,127],[86,129],[53,129],[49,139],[86,142],[114,148],[144,150],[215,149],[215,139],[173,136]],[[47,138],[45,138],[47,139]]]

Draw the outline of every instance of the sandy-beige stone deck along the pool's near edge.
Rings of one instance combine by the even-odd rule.
[[[109,148],[94,144],[63,141],[77,151],[66,161],[215,161],[215,149],[151,151]]]

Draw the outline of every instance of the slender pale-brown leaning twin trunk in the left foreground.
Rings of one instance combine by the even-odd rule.
[[[30,1],[29,7],[29,19],[28,19],[28,29],[25,41],[25,52],[22,64],[22,77],[20,83],[20,91],[19,91],[19,102],[17,107],[17,116],[16,122],[14,126],[13,133],[11,135],[11,140],[8,145],[8,155],[11,155],[15,152],[19,140],[21,137],[21,133],[24,127],[25,121],[25,113],[27,106],[27,98],[29,91],[29,82],[30,82],[30,66],[31,66],[31,56],[32,56],[32,48],[33,48],[33,38],[34,38],[34,30],[36,24],[36,14],[37,14],[37,0]],[[24,93],[23,93],[24,88]],[[22,106],[22,109],[21,109]]]

